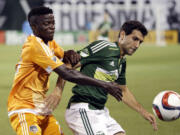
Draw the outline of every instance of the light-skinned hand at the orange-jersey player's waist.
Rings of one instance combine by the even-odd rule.
[[[61,100],[61,92],[59,90],[54,90],[49,96],[45,98],[45,109],[49,111],[54,111]]]

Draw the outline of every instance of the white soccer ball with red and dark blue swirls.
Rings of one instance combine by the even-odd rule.
[[[163,121],[173,121],[180,117],[180,95],[167,90],[157,94],[153,100],[153,112]]]

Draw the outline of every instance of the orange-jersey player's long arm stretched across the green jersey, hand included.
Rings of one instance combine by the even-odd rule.
[[[80,85],[91,85],[104,88],[109,94],[114,96],[118,101],[122,99],[122,91],[118,84],[114,82],[105,82],[88,77],[81,72],[73,69],[68,69],[65,64],[57,67],[54,71],[64,80],[77,83]]]

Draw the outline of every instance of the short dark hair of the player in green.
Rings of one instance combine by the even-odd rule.
[[[124,31],[126,33],[126,35],[129,35],[132,33],[133,30],[139,30],[143,36],[146,36],[148,31],[146,29],[146,27],[139,21],[127,21],[125,22],[122,27],[121,27],[121,31]],[[119,33],[119,37],[120,37],[120,33]]]

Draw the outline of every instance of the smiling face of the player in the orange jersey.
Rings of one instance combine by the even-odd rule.
[[[53,40],[55,31],[55,21],[53,14],[46,14],[37,17],[35,35],[45,42]]]

